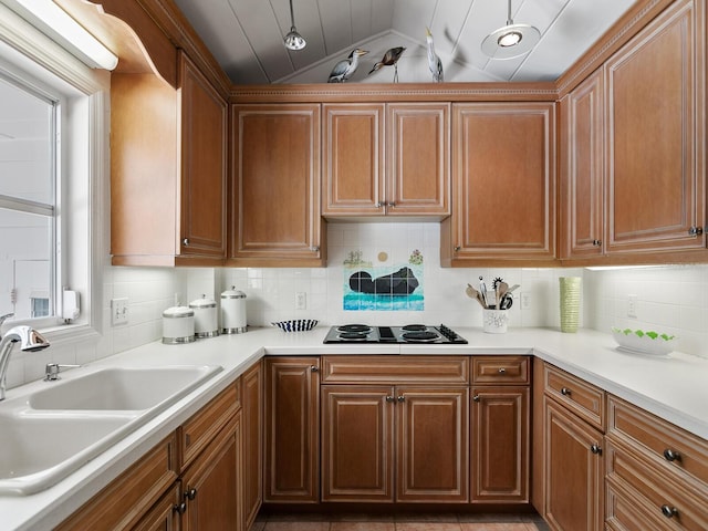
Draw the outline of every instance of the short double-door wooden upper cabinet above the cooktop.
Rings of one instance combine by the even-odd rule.
[[[437,216],[449,207],[449,103],[325,104],[323,214]]]

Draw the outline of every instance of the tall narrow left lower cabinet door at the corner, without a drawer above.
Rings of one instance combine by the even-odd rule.
[[[243,529],[263,501],[263,369],[258,362],[241,376],[243,412]]]

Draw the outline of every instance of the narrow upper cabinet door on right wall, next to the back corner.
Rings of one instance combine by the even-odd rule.
[[[560,254],[602,256],[604,92],[602,70],[561,100]]]

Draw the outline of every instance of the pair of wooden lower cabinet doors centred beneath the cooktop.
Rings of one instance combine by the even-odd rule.
[[[468,501],[468,387],[322,386],[322,501]]]

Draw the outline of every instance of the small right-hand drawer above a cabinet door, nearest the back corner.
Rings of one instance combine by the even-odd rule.
[[[552,397],[585,421],[605,431],[605,392],[548,363],[543,368],[543,387]]]

